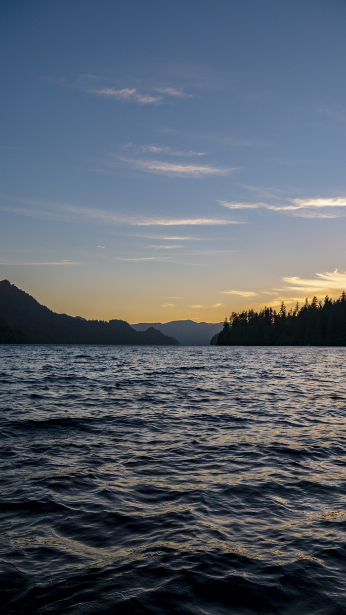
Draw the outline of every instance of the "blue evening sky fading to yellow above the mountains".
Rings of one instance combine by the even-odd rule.
[[[346,289],[344,0],[2,0],[0,279],[88,319]]]

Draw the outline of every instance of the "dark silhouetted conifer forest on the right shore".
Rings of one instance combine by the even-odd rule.
[[[313,297],[286,310],[267,308],[232,312],[216,346],[346,346],[346,293],[324,301]]]

